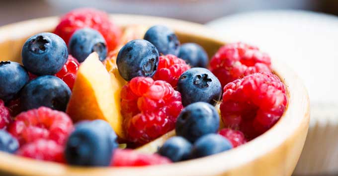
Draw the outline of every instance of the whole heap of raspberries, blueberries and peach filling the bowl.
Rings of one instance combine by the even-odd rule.
[[[21,59],[0,62],[0,150],[37,160],[136,167],[206,157],[264,133],[288,103],[254,46],[227,44],[209,62],[167,26],[122,30],[91,8],[28,38]],[[138,152],[172,130],[157,151]]]

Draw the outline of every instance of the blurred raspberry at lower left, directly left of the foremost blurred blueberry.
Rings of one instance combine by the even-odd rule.
[[[37,160],[65,163],[63,151],[63,146],[53,140],[39,139],[23,145],[16,154]]]

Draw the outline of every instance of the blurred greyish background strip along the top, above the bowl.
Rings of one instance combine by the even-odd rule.
[[[338,14],[338,0],[0,0],[0,25],[60,15],[84,6],[111,13],[166,16],[198,23],[228,14],[264,9],[303,9]]]

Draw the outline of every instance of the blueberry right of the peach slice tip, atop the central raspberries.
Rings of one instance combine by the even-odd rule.
[[[159,52],[146,40],[132,40],[120,50],[116,64],[127,81],[137,76],[152,77],[159,64]]]

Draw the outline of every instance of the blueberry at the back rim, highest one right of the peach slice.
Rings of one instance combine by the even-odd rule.
[[[175,32],[166,26],[156,25],[148,29],[144,39],[155,45],[162,55],[177,56],[179,41]]]

